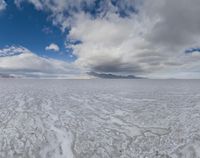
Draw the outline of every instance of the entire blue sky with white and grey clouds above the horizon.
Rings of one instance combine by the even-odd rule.
[[[199,0],[0,0],[0,75],[200,78],[199,15]]]

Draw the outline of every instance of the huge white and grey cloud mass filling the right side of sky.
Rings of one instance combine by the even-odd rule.
[[[199,0],[105,0],[95,17],[83,7],[93,7],[94,0],[29,2],[48,11],[63,32],[70,27],[68,40],[82,41],[71,47],[75,64],[86,71],[200,77],[198,52],[184,53],[200,47]]]

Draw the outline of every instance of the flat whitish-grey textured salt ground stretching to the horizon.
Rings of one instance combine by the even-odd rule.
[[[0,80],[0,158],[200,158],[198,80]]]

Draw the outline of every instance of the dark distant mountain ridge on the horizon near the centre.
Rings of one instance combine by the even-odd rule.
[[[142,79],[142,77],[136,77],[134,75],[123,76],[123,75],[114,75],[110,73],[106,74],[106,73],[88,72],[88,75],[104,79]]]

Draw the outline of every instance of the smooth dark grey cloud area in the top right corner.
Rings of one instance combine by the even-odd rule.
[[[150,34],[150,40],[165,47],[187,47],[200,36],[200,1],[165,0],[157,9],[160,21]]]

